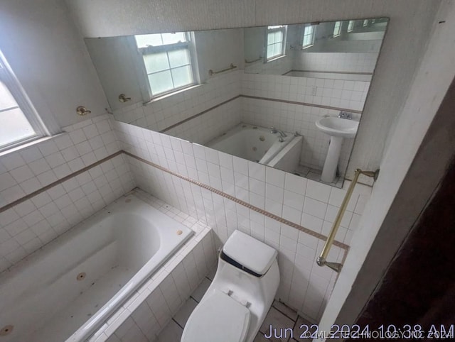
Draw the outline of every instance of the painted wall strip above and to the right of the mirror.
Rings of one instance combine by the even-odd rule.
[[[86,37],[388,17],[390,23],[350,163],[374,170],[422,56],[439,0],[67,1]],[[150,20],[154,18],[154,20]],[[348,172],[348,173],[350,173]]]

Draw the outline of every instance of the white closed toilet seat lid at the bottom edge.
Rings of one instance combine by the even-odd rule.
[[[194,309],[182,342],[243,342],[250,327],[250,310],[218,289]]]

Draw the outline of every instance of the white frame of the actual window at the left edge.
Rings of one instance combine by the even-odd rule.
[[[4,111],[15,108],[21,109],[23,115],[26,117],[28,123],[30,123],[30,126],[33,128],[33,131],[35,132],[33,136],[17,139],[11,143],[7,143],[6,145],[1,145],[0,153],[5,152],[6,150],[10,150],[12,148],[16,148],[20,145],[30,143],[34,140],[41,139],[45,136],[50,136],[48,129],[45,127],[43,121],[38,115],[33,104],[31,104],[30,99],[28,98],[21,84],[18,82],[16,75],[14,75],[13,70],[11,70],[11,67],[9,66],[8,62],[6,61],[6,58],[4,57],[3,53],[1,53],[1,51],[0,81],[6,86],[6,89],[8,89],[9,92],[11,92],[11,95],[14,97],[17,103],[17,107],[15,106],[14,108],[10,107],[9,109],[0,110],[0,114],[3,113]]]

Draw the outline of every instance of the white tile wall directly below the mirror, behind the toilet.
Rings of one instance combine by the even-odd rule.
[[[348,182],[345,189],[337,189],[127,123],[117,122],[115,128],[129,153],[317,233],[328,233],[333,211],[346,194]],[[335,272],[315,263],[323,241],[198,184],[135,158],[128,160],[139,187],[212,227],[219,243],[240,229],[277,248],[282,273],[277,297],[306,318],[319,320],[336,278]],[[370,187],[356,187],[338,241],[349,243],[369,195]],[[341,248],[331,250],[331,260],[342,257]]]

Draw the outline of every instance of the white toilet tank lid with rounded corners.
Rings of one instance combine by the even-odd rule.
[[[277,250],[241,231],[232,233],[223,253],[259,275],[264,275],[277,258]]]

